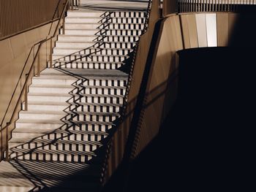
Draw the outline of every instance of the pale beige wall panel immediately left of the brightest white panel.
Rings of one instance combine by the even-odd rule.
[[[207,47],[206,14],[195,15],[197,20],[198,47]]]

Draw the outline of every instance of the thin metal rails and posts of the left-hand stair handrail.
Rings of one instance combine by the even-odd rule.
[[[61,0],[59,0],[59,3],[60,3],[60,1],[61,1]],[[6,161],[9,160],[9,154],[8,154],[8,153],[9,153],[9,146],[8,146],[9,130],[8,130],[8,128],[9,128],[10,124],[13,123],[12,121],[13,121],[13,119],[14,119],[14,117],[15,117],[16,111],[18,110],[18,106],[19,106],[19,104],[20,104],[20,101],[21,101],[21,99],[22,99],[23,94],[25,93],[25,95],[27,96],[27,88],[28,88],[27,84],[28,84],[28,82],[29,82],[29,76],[31,75],[32,69],[34,68],[34,63],[35,63],[35,61],[36,61],[37,55],[39,54],[39,50],[40,50],[42,44],[43,44],[44,42],[49,41],[49,40],[50,40],[50,45],[51,45],[51,46],[50,46],[50,55],[52,55],[52,39],[53,39],[54,37],[56,37],[56,33],[57,33],[57,31],[58,31],[58,29],[59,29],[59,26],[60,26],[60,23],[61,23],[61,18],[63,18],[63,17],[65,16],[64,13],[67,11],[68,5],[69,5],[69,0],[66,0],[66,2],[65,2],[65,4],[64,4],[64,7],[63,7],[63,9],[62,9],[62,12],[61,12],[60,17],[56,19],[56,20],[59,20],[59,22],[58,22],[58,24],[57,24],[57,26],[56,26],[56,29],[55,29],[55,31],[54,31],[54,33],[53,33],[53,36],[52,36],[52,37],[46,37],[45,39],[42,39],[40,42],[37,42],[36,44],[34,44],[34,45],[31,47],[30,52],[29,52],[29,55],[28,55],[28,57],[27,57],[27,59],[26,59],[26,63],[24,64],[23,70],[22,70],[22,72],[20,73],[20,78],[19,78],[19,80],[18,80],[18,82],[17,82],[17,85],[16,85],[16,87],[15,87],[15,91],[13,91],[13,93],[12,93],[12,98],[11,98],[11,100],[10,100],[10,103],[8,104],[7,110],[6,110],[5,114],[4,114],[4,118],[3,118],[3,120],[1,121],[1,124],[0,124],[0,127],[1,127],[1,130],[0,130],[0,131],[1,131],[1,138],[2,138],[2,131],[4,131],[4,129],[6,129],[6,155],[5,155],[5,160],[6,160]],[[57,10],[57,9],[59,9],[59,4],[58,4],[58,7],[56,8],[56,10]],[[53,18],[55,17],[55,14],[56,14],[56,11],[54,12]],[[51,31],[51,29],[52,29],[53,22],[55,22],[56,20],[53,19],[53,20],[51,21],[52,25],[50,26],[48,35],[50,35],[50,31]],[[25,68],[26,68],[26,65],[28,64],[28,61],[29,61],[29,58],[30,58],[30,56],[31,56],[32,50],[34,50],[34,47],[36,47],[37,45],[39,45],[39,47],[38,47],[38,49],[37,49],[37,53],[34,55],[34,59],[33,59],[33,61],[32,61],[31,67],[30,67],[30,69],[29,69],[29,73],[26,74],[26,81],[24,82],[23,88],[22,88],[22,90],[20,91],[20,96],[18,97],[18,101],[17,101],[17,103],[15,104],[15,109],[14,109],[14,111],[12,112],[12,116],[11,116],[11,118],[10,118],[10,121],[9,121],[9,123],[7,123],[7,126],[3,126],[3,123],[4,123],[4,120],[5,120],[5,118],[6,118],[7,112],[8,112],[8,110],[10,109],[10,105],[11,105],[11,103],[12,103],[12,99],[13,99],[14,96],[15,96],[15,92],[17,91],[19,82],[21,82],[21,78],[22,78],[23,72],[24,72],[24,70],[25,70]],[[50,56],[50,66],[52,66],[52,62],[53,62],[53,61],[52,61],[52,56]],[[39,67],[39,66],[38,66],[38,67]],[[38,71],[39,71],[39,70],[38,70]],[[38,75],[39,75],[39,74],[38,74]],[[25,110],[27,110],[27,101],[25,101]]]

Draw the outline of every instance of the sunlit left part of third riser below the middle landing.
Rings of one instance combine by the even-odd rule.
[[[67,102],[72,100],[72,96],[31,96],[28,95],[29,101],[54,101],[54,102]]]

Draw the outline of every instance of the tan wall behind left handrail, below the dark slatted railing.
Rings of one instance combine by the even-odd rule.
[[[53,28],[55,28],[55,26],[56,23],[53,25]],[[48,36],[49,28],[50,24],[47,24],[31,31],[18,34],[15,37],[0,41],[0,123],[4,117],[5,111],[7,110],[12,93],[15,90],[15,86],[18,82],[23,66],[26,63],[26,59],[28,58],[29,50],[34,44]],[[45,53],[42,53],[41,59],[45,58],[47,55],[46,53],[48,52],[46,50],[46,45],[43,46],[45,47]],[[37,47],[35,47],[35,52],[37,51]],[[29,72],[29,68],[33,61],[32,57],[33,54],[29,58],[25,72],[23,72],[21,85],[23,85],[23,82],[25,81],[25,74]],[[44,61],[46,61],[46,58]],[[42,65],[46,64],[42,63]],[[16,98],[19,93],[20,85],[17,93],[15,93]],[[13,102],[10,108],[13,109],[14,105],[15,102]],[[10,115],[10,113],[7,114],[7,119],[4,120],[3,126],[5,126],[8,120],[10,120]]]

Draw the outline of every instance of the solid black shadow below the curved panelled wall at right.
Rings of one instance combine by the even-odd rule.
[[[246,191],[252,185],[254,50],[180,51],[178,99],[159,135],[105,191]],[[122,177],[129,167],[129,179]],[[122,177],[121,177],[122,176]]]

